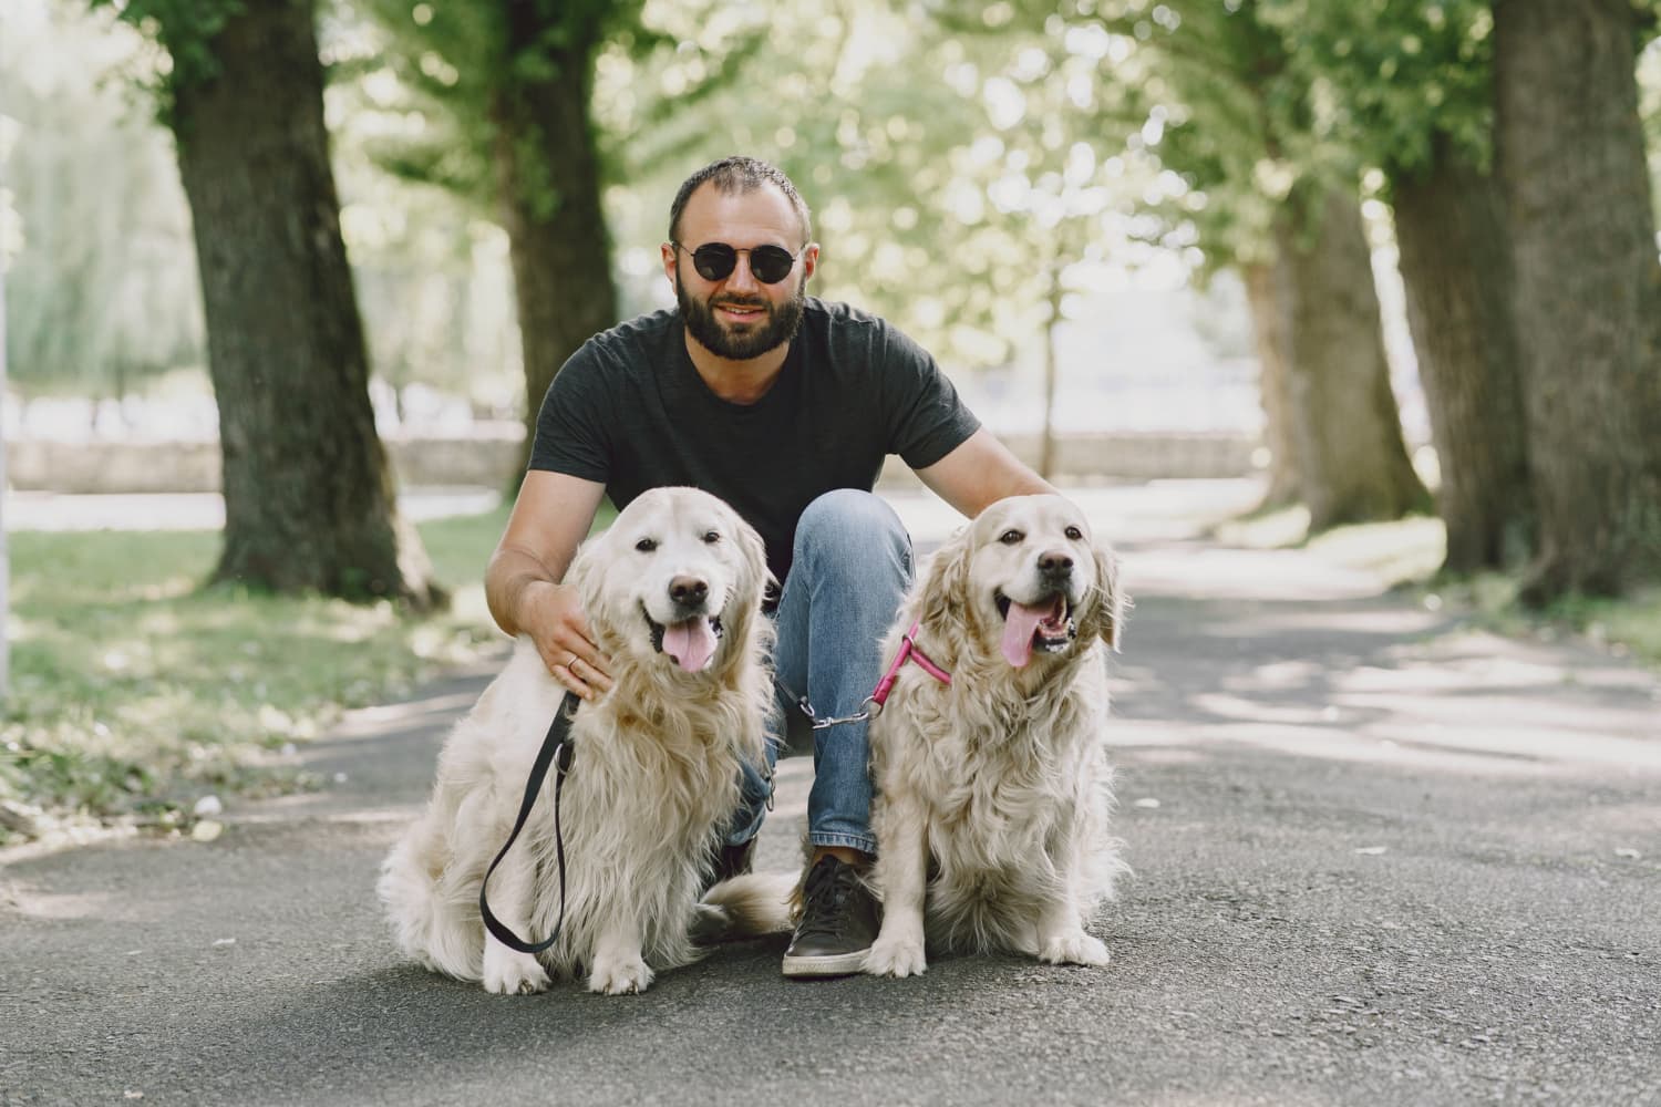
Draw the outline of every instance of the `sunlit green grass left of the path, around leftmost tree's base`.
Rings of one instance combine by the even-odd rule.
[[[17,533],[0,843],[63,823],[181,822],[203,793],[311,782],[282,755],[347,707],[384,702],[502,642],[482,574],[507,508],[420,526],[448,612],[412,617],[203,589],[208,531]]]

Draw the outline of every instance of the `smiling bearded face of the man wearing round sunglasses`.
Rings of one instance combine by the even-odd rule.
[[[681,212],[681,247],[663,247],[664,272],[674,282],[674,299],[688,334],[716,357],[734,362],[761,357],[796,337],[802,322],[807,279],[819,247],[802,249],[796,211],[779,189],[764,184],[749,193],[726,194],[704,184]],[[726,242],[737,251],[777,246],[801,251],[796,267],[777,284],[762,284],[749,267],[749,254],[719,280],[704,279],[693,266],[699,246]]]

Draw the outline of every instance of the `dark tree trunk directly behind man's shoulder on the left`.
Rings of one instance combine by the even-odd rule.
[[[508,0],[508,68],[497,101],[497,179],[525,362],[525,445],[555,373],[616,322],[600,156],[588,119],[598,32],[558,5]],[[566,43],[550,50],[546,43]],[[535,65],[517,65],[533,56]]]

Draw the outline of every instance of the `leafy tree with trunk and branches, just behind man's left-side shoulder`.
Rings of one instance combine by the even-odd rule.
[[[595,123],[595,75],[608,48],[671,53],[678,40],[641,22],[643,0],[367,0],[389,33],[380,61],[430,116],[422,134],[380,144],[390,169],[467,198],[508,234],[525,375],[525,445],[555,373],[593,334],[618,320],[618,287],[605,186],[639,134],[606,149]],[[683,86],[678,106],[694,111],[731,80],[752,41],[718,40]],[[630,90],[649,123],[664,101]]]

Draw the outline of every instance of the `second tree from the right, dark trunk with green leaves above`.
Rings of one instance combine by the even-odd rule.
[[[1382,168],[1407,320],[1440,461],[1445,568],[1516,566],[1533,544],[1510,244],[1488,173],[1492,20],[1485,0],[1269,0],[1302,73],[1309,141]]]

